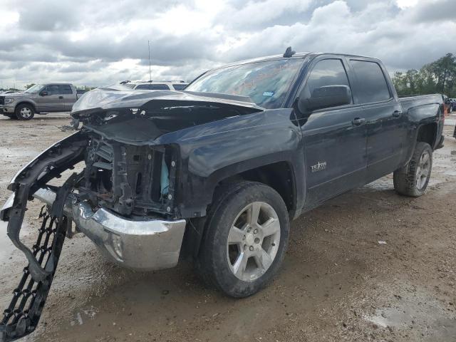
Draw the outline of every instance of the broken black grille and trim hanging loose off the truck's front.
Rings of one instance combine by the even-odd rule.
[[[35,330],[46,302],[60,258],[63,241],[68,228],[68,218],[63,215],[66,198],[78,182],[79,175],[73,173],[56,188],[56,200],[46,211],[41,210],[43,219],[38,229],[38,238],[32,249],[19,239],[24,220],[26,203],[37,187],[73,167],[83,151],[80,133],[58,142],[39,155],[14,177],[9,185],[14,195],[1,210],[1,219],[8,222],[8,236],[28,260],[13,299],[0,321],[0,341],[14,341]]]

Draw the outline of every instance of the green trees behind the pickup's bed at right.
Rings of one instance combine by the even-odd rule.
[[[398,95],[441,93],[456,98],[456,56],[447,53],[420,70],[396,72],[393,83]]]

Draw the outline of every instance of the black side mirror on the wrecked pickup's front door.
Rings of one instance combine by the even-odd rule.
[[[331,108],[351,103],[351,90],[348,86],[324,86],[315,88],[310,98],[299,96],[298,109],[301,113]]]

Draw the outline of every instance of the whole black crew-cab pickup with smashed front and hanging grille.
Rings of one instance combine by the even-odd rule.
[[[98,88],[71,115],[79,130],[9,185],[1,219],[29,264],[0,341],[36,328],[75,231],[122,266],[191,258],[208,284],[249,296],[279,270],[291,219],[391,172],[398,193],[423,195],[443,142],[440,95],[399,100],[375,58],[291,49],[208,71],[185,91]],[[46,206],[29,249],[19,231],[32,199]]]

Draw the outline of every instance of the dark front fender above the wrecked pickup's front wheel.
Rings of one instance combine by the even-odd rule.
[[[247,170],[287,162],[292,173],[300,175],[302,160],[297,156],[303,154],[296,150],[301,130],[290,115],[291,110],[281,109],[228,118],[178,140],[182,217],[204,216],[219,182]]]

